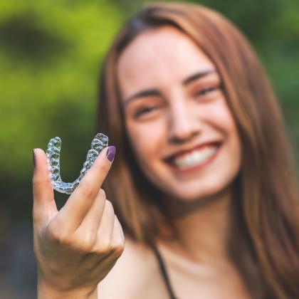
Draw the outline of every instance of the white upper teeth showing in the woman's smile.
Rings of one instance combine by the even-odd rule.
[[[216,152],[216,147],[204,147],[201,150],[194,150],[189,154],[184,154],[184,157],[174,158],[174,165],[177,167],[189,167],[194,164],[205,162]]]

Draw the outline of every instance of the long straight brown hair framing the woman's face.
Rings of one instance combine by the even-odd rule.
[[[250,268],[256,265],[263,298],[299,298],[297,180],[280,110],[246,38],[211,9],[193,4],[146,6],[125,24],[107,53],[98,131],[117,147],[104,188],[125,232],[151,245],[160,234],[159,224],[170,222],[159,190],[147,181],[132,154],[116,76],[117,60],[128,43],[158,26],[182,31],[214,62],[238,127],[243,159],[232,206],[241,238],[232,234],[229,243],[237,268],[244,280],[250,280]],[[238,256],[249,257],[250,263]]]

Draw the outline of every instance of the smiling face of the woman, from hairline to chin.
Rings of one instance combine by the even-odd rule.
[[[240,168],[236,124],[209,58],[183,33],[137,36],[117,65],[125,125],[140,168],[181,200],[228,187]]]

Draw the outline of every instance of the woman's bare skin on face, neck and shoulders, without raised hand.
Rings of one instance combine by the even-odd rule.
[[[191,79],[199,73],[206,75]],[[230,186],[240,169],[241,146],[214,63],[183,33],[164,27],[127,46],[117,75],[132,148],[147,179],[164,192],[179,232],[176,240],[157,240],[175,294],[249,298],[226,252]],[[221,142],[216,157],[196,171],[176,172],[165,162],[169,155],[215,141]],[[151,251],[127,241],[99,294],[169,298],[161,281]]]

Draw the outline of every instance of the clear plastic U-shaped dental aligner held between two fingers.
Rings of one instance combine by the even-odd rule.
[[[60,169],[60,154],[61,154],[61,139],[59,137],[52,138],[48,143],[48,150],[46,155],[48,158],[48,167],[50,172],[50,180],[53,188],[61,193],[71,194],[80,180],[84,177],[85,173],[90,169],[95,162],[96,157],[100,154],[100,151],[108,145],[108,137],[104,134],[98,133],[95,135],[93,142],[91,142],[91,149],[88,151],[86,161],[83,164],[83,168],[80,171],[80,176],[73,183],[65,183],[61,179]]]

